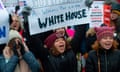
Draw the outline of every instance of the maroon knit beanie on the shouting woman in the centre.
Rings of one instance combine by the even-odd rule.
[[[51,48],[55,40],[58,38],[64,38],[64,36],[59,33],[53,33],[45,39],[44,44],[47,46],[47,48]]]

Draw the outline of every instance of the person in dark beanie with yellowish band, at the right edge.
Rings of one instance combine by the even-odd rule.
[[[120,4],[113,3],[111,4],[111,24],[110,26],[115,27],[115,38],[120,43]],[[118,48],[120,45],[118,46]]]

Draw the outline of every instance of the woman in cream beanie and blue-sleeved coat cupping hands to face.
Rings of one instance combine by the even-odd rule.
[[[0,72],[40,72],[40,64],[16,30],[10,30],[8,43],[0,55]]]

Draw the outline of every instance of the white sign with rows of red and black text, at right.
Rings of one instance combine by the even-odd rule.
[[[90,8],[90,27],[99,27],[104,23],[104,1],[94,1]]]

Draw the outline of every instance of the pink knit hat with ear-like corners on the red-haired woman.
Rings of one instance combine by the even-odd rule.
[[[95,32],[97,36],[97,40],[101,40],[105,36],[114,37],[114,27],[95,27]]]

